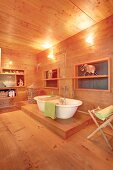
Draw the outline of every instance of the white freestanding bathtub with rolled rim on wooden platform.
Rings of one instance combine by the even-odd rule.
[[[56,117],[60,119],[68,119],[73,117],[78,106],[82,104],[82,101],[69,99],[69,98],[61,98],[60,96],[54,98],[51,96],[36,96],[34,99],[37,102],[39,110],[45,111],[45,102],[54,102],[56,104]]]

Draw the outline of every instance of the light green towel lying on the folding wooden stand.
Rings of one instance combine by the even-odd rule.
[[[110,105],[105,109],[99,110],[95,113],[95,115],[103,121],[112,114],[113,114],[113,105]]]

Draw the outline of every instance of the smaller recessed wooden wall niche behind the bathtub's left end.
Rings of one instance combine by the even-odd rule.
[[[59,87],[59,69],[47,70],[44,72],[44,87],[58,88]]]

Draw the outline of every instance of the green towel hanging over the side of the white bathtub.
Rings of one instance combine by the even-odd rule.
[[[44,115],[47,117],[51,117],[52,119],[56,118],[55,115],[55,103],[46,102],[45,103],[45,112]]]

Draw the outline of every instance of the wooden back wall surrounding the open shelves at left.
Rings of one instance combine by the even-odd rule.
[[[9,62],[12,61],[10,65]],[[36,78],[36,63],[37,57],[33,53],[23,53],[16,50],[9,50],[8,48],[2,48],[2,68],[5,69],[17,69],[24,70],[25,72],[25,87],[16,88],[16,97],[14,102],[27,100],[26,88],[31,84],[37,83]]]

